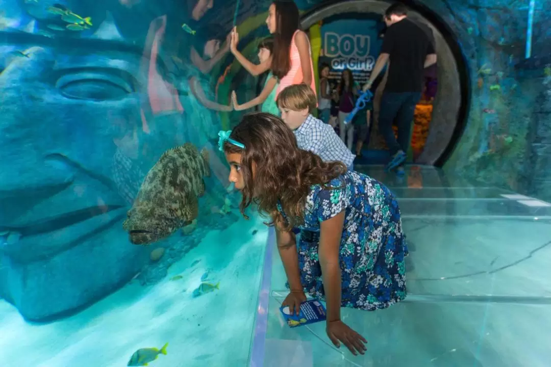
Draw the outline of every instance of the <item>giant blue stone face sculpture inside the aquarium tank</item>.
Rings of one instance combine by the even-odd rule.
[[[148,263],[150,249],[129,243],[122,222],[145,173],[189,133],[185,111],[147,108],[151,19],[115,26],[103,9],[103,18],[87,14],[93,29],[63,34],[44,31],[48,15],[21,3],[4,2],[21,29],[0,40],[0,298],[27,320],[48,321]],[[215,124],[203,107],[186,106]]]

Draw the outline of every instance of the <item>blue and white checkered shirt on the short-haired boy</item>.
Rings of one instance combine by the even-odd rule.
[[[300,149],[311,151],[325,162],[341,161],[347,167],[352,165],[355,156],[344,145],[331,125],[322,120],[309,114],[294,133]]]

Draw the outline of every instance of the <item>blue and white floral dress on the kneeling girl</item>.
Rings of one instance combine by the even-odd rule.
[[[281,206],[279,210],[283,213]],[[318,260],[320,224],[343,210],[342,306],[372,311],[406,298],[404,256],[408,250],[398,203],[383,184],[350,171],[325,188],[312,186],[306,198],[297,244],[304,291],[325,299]]]

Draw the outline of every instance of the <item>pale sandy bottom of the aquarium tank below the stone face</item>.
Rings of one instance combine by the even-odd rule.
[[[51,324],[28,324],[0,300],[0,365],[122,367],[137,349],[168,342],[168,354],[149,366],[245,366],[266,238],[261,219],[240,219],[209,232],[160,283],[144,287],[133,281]],[[220,289],[192,298],[207,270]],[[176,275],[182,278],[171,281]]]

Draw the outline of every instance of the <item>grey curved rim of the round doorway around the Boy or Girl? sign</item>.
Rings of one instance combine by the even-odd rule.
[[[318,21],[343,13],[384,14],[391,2],[380,0],[350,0],[322,4],[302,15],[302,29]],[[436,42],[438,87],[433,105],[433,118],[429,135],[417,162],[422,165],[441,166],[451,154],[463,131],[468,105],[467,69],[460,48],[450,32],[434,21],[427,9],[410,9],[409,17],[424,23],[433,31]],[[433,18],[429,20],[429,15]],[[440,22],[441,23],[441,22]]]

